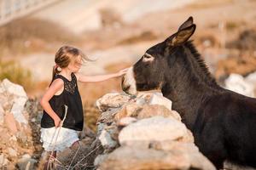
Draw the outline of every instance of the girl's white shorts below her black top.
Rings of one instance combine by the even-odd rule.
[[[43,142],[43,148],[46,151],[52,151],[53,149],[62,151],[79,140],[78,133],[78,131],[65,127],[41,128],[40,141]]]

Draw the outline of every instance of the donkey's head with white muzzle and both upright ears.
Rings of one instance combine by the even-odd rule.
[[[123,78],[122,88],[128,94],[137,94],[137,91],[160,89],[170,77],[172,62],[176,60],[178,49],[189,40],[195,31],[193,18],[189,17],[176,33],[148,48],[142,58],[133,65]]]

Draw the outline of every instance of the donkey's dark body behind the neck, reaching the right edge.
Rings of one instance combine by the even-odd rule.
[[[202,107],[193,129],[201,152],[219,167],[224,160],[256,167],[256,99],[224,90]]]

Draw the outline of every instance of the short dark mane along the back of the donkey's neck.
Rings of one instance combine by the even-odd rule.
[[[212,82],[213,84],[217,84],[217,82],[215,81],[215,79],[212,77],[212,74],[210,73],[208,66],[206,65],[206,62],[204,59],[201,59],[201,54],[198,53],[198,51],[196,50],[193,41],[188,41],[185,43],[185,46],[187,48],[189,48],[191,54],[193,55],[193,57],[195,58],[196,62],[198,63],[198,65],[201,68],[201,71],[204,73],[204,75],[207,78],[207,81]]]

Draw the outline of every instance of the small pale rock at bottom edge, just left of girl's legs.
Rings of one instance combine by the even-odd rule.
[[[37,160],[32,159],[31,156],[26,154],[18,160],[17,165],[20,169],[33,170],[35,169],[36,162]]]

